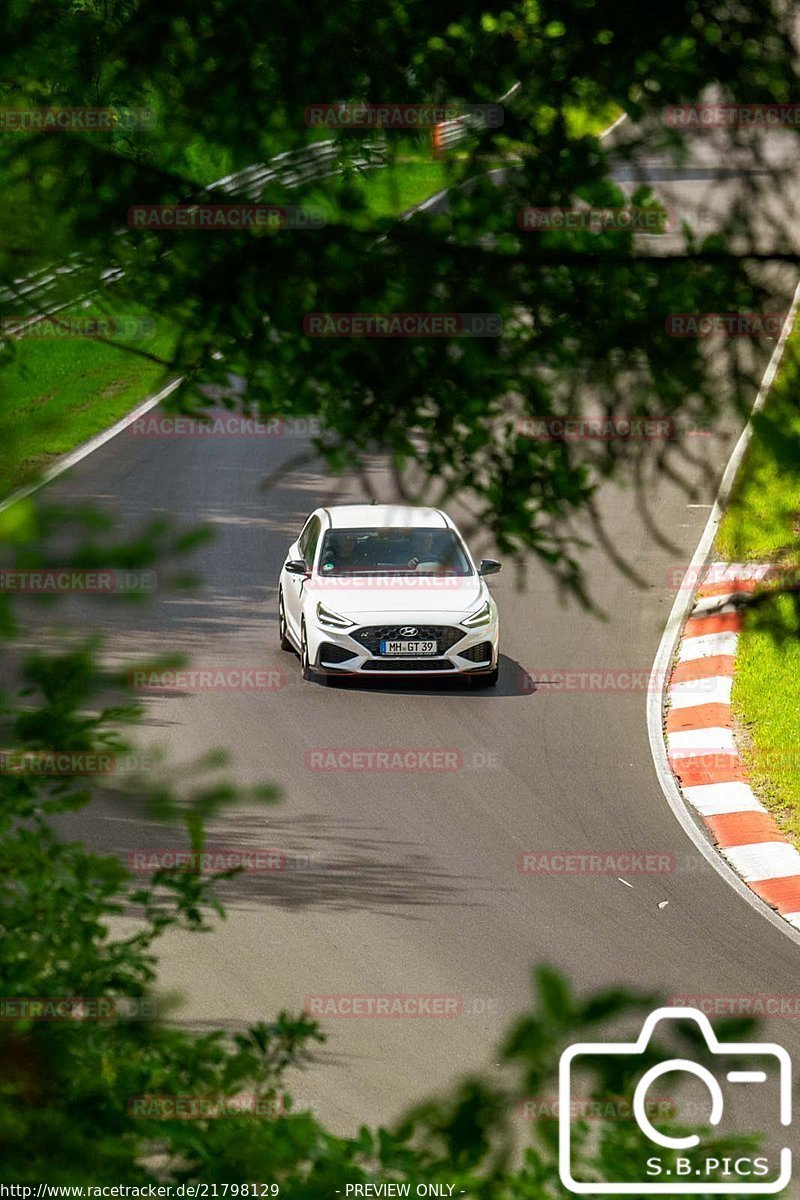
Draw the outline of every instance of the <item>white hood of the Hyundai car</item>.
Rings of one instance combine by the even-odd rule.
[[[476,608],[488,596],[483,581],[398,576],[390,583],[367,576],[363,580],[309,580],[307,594],[343,617],[356,617],[365,624],[366,614],[380,619],[387,613],[405,620],[422,613],[456,613],[458,617]],[[457,619],[458,619],[457,617]]]

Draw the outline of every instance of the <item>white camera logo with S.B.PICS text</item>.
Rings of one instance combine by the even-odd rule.
[[[772,1042],[720,1042],[704,1013],[696,1008],[657,1008],[646,1018],[636,1042],[581,1042],[564,1051],[559,1062],[559,1175],[567,1190],[577,1195],[771,1195],[782,1192],[792,1178],[792,1151],[784,1146],[780,1152],[778,1175],[775,1176],[766,1154],[753,1157],[741,1154],[720,1158],[706,1154],[697,1134],[673,1136],[656,1129],[648,1115],[648,1091],[668,1072],[682,1072],[699,1079],[710,1096],[708,1123],[717,1127],[726,1108],[726,1093],[717,1076],[705,1066],[691,1058],[667,1058],[643,1070],[636,1084],[632,1111],[642,1134],[640,1178],[597,1178],[597,1168],[591,1169],[593,1178],[576,1178],[587,1174],[585,1168],[576,1172],[576,1139],[571,1122],[570,1100],[572,1081],[581,1072],[591,1069],[593,1062],[609,1055],[626,1055],[634,1060],[645,1055],[652,1032],[658,1021],[691,1020],[699,1026],[708,1054],[718,1068],[720,1079],[728,1084],[770,1085],[777,1087],[778,1116],[782,1126],[792,1121],[792,1061],[783,1046]],[[722,1056],[716,1061],[716,1056]],[[729,1058],[729,1061],[726,1061]],[[742,1069],[741,1060],[751,1060]],[[756,1061],[753,1061],[756,1060]],[[764,1060],[776,1067],[771,1074],[764,1068]],[[650,1055],[650,1060],[652,1057]],[[631,1061],[631,1070],[636,1063]],[[758,1068],[758,1069],[757,1069]],[[576,1092],[576,1094],[578,1094]],[[716,1129],[715,1129],[716,1132]],[[699,1148],[698,1148],[699,1147]],[[658,1153],[661,1151],[661,1153]],[[691,1153],[691,1152],[694,1153]],[[770,1177],[772,1176],[772,1177]]]

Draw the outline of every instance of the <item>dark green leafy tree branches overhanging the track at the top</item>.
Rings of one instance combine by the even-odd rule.
[[[609,178],[609,151],[570,120],[576,110],[618,106],[639,122],[614,150],[636,178],[644,136],[650,151],[680,158],[684,134],[664,124],[666,104],[693,102],[711,84],[747,104],[793,96],[793,50],[769,0],[686,0],[646,20],[612,2],[380,13],[278,4],[267,18],[255,0],[212,11],[181,0],[60,0],[48,14],[8,8],[0,64],[14,103],[144,106],[158,124],[112,138],[4,138],[0,186],[19,216],[0,268],[18,275],[44,241],[54,257],[80,252],[84,287],[122,269],[118,299],[144,298],[180,324],[164,364],[184,376],[173,404],[203,406],[204,384],[224,390],[237,373],[252,408],[320,418],[332,468],[384,452],[401,494],[441,503],[459,494],[501,550],[533,548],[578,590],[565,521],[591,506],[599,480],[624,466],[644,491],[646,463],[681,478],[690,450],[680,427],[714,426],[728,401],[709,379],[700,343],[676,342],[664,323],[765,304],[753,272],[764,257],[754,245],[758,172],[732,216],[744,242],[735,253],[722,235],[690,236],[667,254],[636,245],[630,232],[523,233],[517,218],[525,205],[576,197],[628,203]],[[319,136],[305,124],[309,104],[489,103],[515,83],[504,124],[452,161],[453,186],[471,182],[451,192],[449,212],[399,224],[372,218],[344,173],[264,192],[277,204],[324,202],[324,229],[119,235],[130,205],[197,196],[207,179],[193,178],[192,164],[204,157],[242,167],[308,144]],[[363,137],[342,132],[343,156]],[[752,144],[751,133],[732,138]],[[504,176],[483,176],[500,162]],[[769,187],[778,186],[771,176]],[[630,199],[651,203],[644,186]],[[312,337],[303,320],[315,312],[488,312],[503,336]],[[728,400],[741,407],[752,398],[752,362],[735,340],[726,353]],[[593,446],[530,437],[518,424],[588,412],[675,420],[679,432]]]

